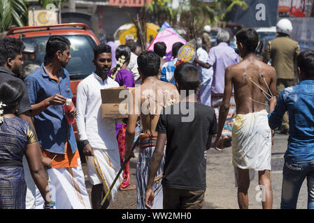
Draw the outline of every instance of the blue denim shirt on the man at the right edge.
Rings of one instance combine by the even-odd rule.
[[[283,115],[289,113],[289,139],[285,160],[314,160],[314,81],[304,80],[280,92],[269,123],[280,128]]]

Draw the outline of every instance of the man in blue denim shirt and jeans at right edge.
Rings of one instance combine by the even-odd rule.
[[[314,209],[314,51],[297,56],[299,84],[280,92],[269,126],[280,128],[289,114],[289,139],[283,167],[280,208],[296,208],[301,185],[308,184],[308,208]],[[274,99],[271,99],[274,100]]]

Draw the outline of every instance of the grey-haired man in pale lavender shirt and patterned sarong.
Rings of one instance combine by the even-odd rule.
[[[211,48],[208,56],[208,63],[213,66],[213,83],[211,85],[211,106],[215,109],[215,114],[218,120],[219,107],[222,103],[224,95],[224,70],[239,62],[238,54],[229,47],[229,32],[221,29],[218,31],[217,43],[218,45]],[[231,146],[231,131],[233,126],[232,119],[236,114],[236,104],[234,102],[234,95],[231,95],[229,114],[226,123],[224,123],[224,130],[222,131],[222,138],[224,139],[224,146]]]

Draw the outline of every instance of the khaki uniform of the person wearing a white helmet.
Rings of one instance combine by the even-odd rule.
[[[264,54],[264,59],[271,59],[271,66],[277,73],[277,95],[288,86],[296,84],[294,62],[300,53],[300,47],[297,41],[292,40],[289,36],[278,36],[269,40]],[[283,116],[283,130],[289,129],[287,112]]]

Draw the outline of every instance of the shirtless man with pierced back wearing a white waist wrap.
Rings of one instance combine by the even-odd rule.
[[[254,29],[241,29],[236,34],[241,63],[225,71],[224,98],[220,106],[215,149],[221,151],[221,132],[229,111],[229,101],[234,86],[236,117],[232,130],[232,164],[238,186],[238,206],[248,208],[248,187],[255,171],[259,173],[262,189],[262,207],[272,208],[271,189],[271,129],[267,125],[265,97],[269,112],[276,105],[276,70],[259,61],[255,55],[258,43]]]

